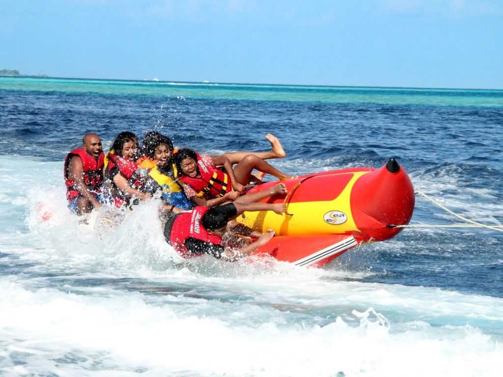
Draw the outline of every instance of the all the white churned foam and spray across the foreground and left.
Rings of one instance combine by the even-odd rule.
[[[18,166],[0,177],[0,205],[19,216],[0,233],[0,374],[503,373],[503,299],[358,281],[374,273],[365,268],[182,264],[153,201],[100,237],[95,218],[80,224],[67,210],[62,163]],[[357,249],[348,265],[376,250]]]

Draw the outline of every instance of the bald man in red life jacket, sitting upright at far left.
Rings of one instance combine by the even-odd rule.
[[[68,208],[79,216],[101,207],[104,160],[101,139],[96,134],[84,135],[82,147],[64,159]]]

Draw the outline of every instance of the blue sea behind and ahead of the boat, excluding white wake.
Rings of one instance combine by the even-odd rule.
[[[452,210],[491,224],[503,219],[500,91],[332,88],[333,98],[317,101],[309,100],[311,92],[315,98],[322,90],[316,87],[235,85],[228,91],[234,90],[236,99],[230,99],[228,94],[213,93],[216,89],[210,86],[188,85],[184,96],[174,97],[170,92],[102,93],[92,84],[89,91],[67,86],[59,91],[33,90],[33,85],[29,90],[6,85],[0,89],[2,155],[62,161],[87,132],[98,133],[110,145],[120,131],[141,137],[152,129],[170,136],[177,146],[200,151],[260,150],[267,148],[263,136],[272,132],[288,153],[281,163],[290,173],[378,167],[394,157],[421,190],[450,204]],[[192,98],[196,89],[206,90],[206,97]],[[240,92],[250,90],[280,93],[285,99],[239,98]],[[307,100],[286,100],[296,92]],[[500,101],[499,106],[487,106],[484,98],[492,104]],[[478,106],[471,105],[474,99]],[[412,220],[454,223],[420,198]],[[357,261],[346,257],[335,264],[379,271],[364,281],[503,297],[501,234],[483,229],[426,233],[406,229],[397,239],[403,245],[399,250],[376,246],[358,255]]]

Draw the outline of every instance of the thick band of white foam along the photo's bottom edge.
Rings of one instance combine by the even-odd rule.
[[[33,292],[2,278],[0,298],[8,305],[0,312],[0,336],[8,346],[1,370],[12,375],[108,369],[112,374],[258,376],[468,376],[475,370],[489,376],[503,371],[498,362],[502,343],[467,325],[410,321],[395,332],[382,313],[349,308],[347,316],[356,324],[338,316],[321,327],[289,324],[282,312],[264,306],[233,306],[232,313],[226,303],[199,300],[198,313],[188,314],[169,294],[156,303],[137,293],[104,291]],[[227,314],[212,315],[215,309]],[[269,319],[257,325],[256,317]],[[20,368],[16,360],[26,364]]]

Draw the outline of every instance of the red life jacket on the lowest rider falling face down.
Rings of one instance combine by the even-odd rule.
[[[201,224],[203,215],[208,211],[208,207],[195,207],[191,212],[184,212],[177,215],[171,228],[170,241],[171,245],[184,258],[193,258],[204,253],[193,253],[185,247],[187,238],[195,238],[204,242],[211,242],[219,245],[222,238],[209,234]]]

